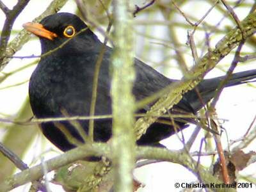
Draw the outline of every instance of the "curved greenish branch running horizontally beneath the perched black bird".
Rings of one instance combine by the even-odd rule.
[[[159,159],[162,161],[168,161],[172,163],[182,164],[184,167],[191,170],[191,172],[200,175],[200,179],[205,183],[222,183],[222,181],[216,179],[212,176],[212,173],[205,170],[205,168],[201,165],[198,165],[195,160],[193,160],[188,154],[179,151],[170,151],[165,148],[156,148],[156,147],[136,147],[136,159]],[[61,166],[65,166],[69,163],[74,163],[79,159],[84,159],[90,156],[106,156],[111,158],[111,150],[108,143],[89,143],[86,145],[82,145],[80,147],[69,150],[65,154],[61,154],[60,156],[54,157],[45,161],[45,165],[48,168],[48,172],[52,170],[56,170]],[[99,171],[100,172],[100,171]],[[20,173],[16,173],[15,175],[9,177],[4,180],[0,184],[0,191],[10,191],[11,189],[17,188],[23,184],[36,180],[44,175],[42,164],[38,164],[29,168],[28,170],[24,170]],[[197,175],[196,175],[197,176]],[[88,178],[84,178],[86,183],[84,185],[91,185],[93,188],[95,187],[95,181],[88,179],[95,179],[95,177],[88,176]],[[99,179],[99,178],[98,178]],[[100,182],[102,179],[99,179]],[[83,188],[83,186],[80,186]],[[88,186],[87,186],[88,189]],[[92,188],[91,188],[92,189]],[[88,189],[89,191],[91,189]],[[225,191],[227,189],[220,189]],[[230,189],[230,191],[234,191]]]

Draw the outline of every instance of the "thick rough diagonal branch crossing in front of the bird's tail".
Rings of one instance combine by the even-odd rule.
[[[195,88],[196,84],[202,81],[209,70],[214,68],[222,58],[227,56],[232,49],[243,41],[243,37],[248,38],[255,33],[256,13],[254,12],[248,15],[248,17],[241,22],[241,26],[244,29],[244,36],[241,34],[239,28],[232,29],[232,31],[216,44],[216,48],[213,51],[207,52],[207,54],[196,63],[197,65],[189,70],[186,77],[183,77],[181,81],[173,83],[161,91],[167,93],[167,95],[161,97],[154,106],[147,111],[147,116],[138,119],[136,122],[135,130],[137,139],[147,131],[147,127],[153,124],[159,116],[163,115],[168,109],[172,108],[173,105],[177,104],[180,99],[182,99],[184,93]],[[152,100],[147,100],[147,102],[152,102]]]

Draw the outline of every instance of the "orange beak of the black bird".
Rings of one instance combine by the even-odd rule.
[[[54,40],[58,35],[44,28],[42,24],[36,22],[26,22],[22,25],[24,29],[35,34],[36,36],[44,37],[49,40]]]

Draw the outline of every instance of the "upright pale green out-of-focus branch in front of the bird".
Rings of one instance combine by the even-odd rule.
[[[113,109],[113,165],[115,191],[132,191],[132,169],[134,168],[135,138],[134,81],[132,14],[129,0],[113,1],[115,48],[112,56],[113,79],[111,84]]]

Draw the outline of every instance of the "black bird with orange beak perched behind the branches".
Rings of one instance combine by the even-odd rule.
[[[56,13],[42,19],[40,23],[28,22],[24,28],[40,38],[42,54],[29,81],[29,99],[31,108],[37,118],[54,118],[61,116],[88,116],[90,113],[93,75],[102,43],[86,24],[71,13]],[[68,40],[68,41],[67,41]],[[57,49],[56,49],[57,48]],[[50,52],[49,52],[50,51]],[[95,115],[111,114],[111,54],[113,49],[106,47],[99,72]],[[134,58],[136,81],[132,93],[136,100],[145,99],[175,81],[163,76],[154,68]],[[232,74],[225,86],[242,84],[256,77],[256,70]],[[225,77],[205,79],[198,84],[197,90],[184,94],[172,113],[195,114],[204,104],[214,97],[216,89]],[[145,113],[153,103],[136,111]],[[63,112],[65,111],[65,113]],[[184,129],[188,121],[175,118],[175,126]],[[84,131],[88,132],[88,120],[78,120]],[[111,118],[95,120],[94,141],[108,141],[111,138]],[[84,143],[83,138],[72,122],[44,122],[42,132],[56,147],[63,151],[76,147],[67,140],[65,132]],[[60,127],[62,129],[60,129]],[[61,131],[62,130],[62,131]],[[150,125],[147,132],[137,141],[138,145],[157,145],[168,138],[175,129],[170,118],[160,118]]]

